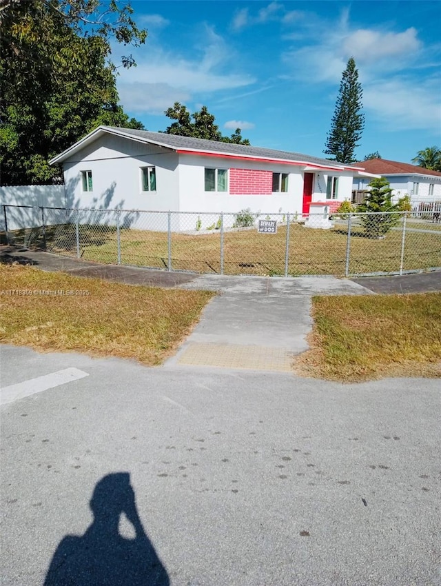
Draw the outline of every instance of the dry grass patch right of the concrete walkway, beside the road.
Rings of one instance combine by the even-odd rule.
[[[441,377],[441,293],[317,296],[298,374],[334,381]]]

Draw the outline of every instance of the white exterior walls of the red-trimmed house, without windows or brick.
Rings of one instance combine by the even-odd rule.
[[[141,214],[139,210],[188,212],[172,216],[172,230],[194,230],[198,214],[204,212],[213,216],[204,218],[207,225],[217,221],[221,212],[229,214],[225,216],[226,226],[234,223],[234,214],[247,208],[263,216],[302,213],[303,165],[176,154],[157,145],[105,134],[73,154],[63,166],[68,208],[132,210],[120,216],[121,225],[132,228],[167,230],[166,213],[158,216]],[[141,168],[146,166],[156,168],[156,192],[141,191]],[[246,195],[206,192],[205,168],[288,173],[288,191]],[[92,172],[92,192],[83,192],[83,171]],[[311,172],[315,175],[312,201],[322,201],[326,197],[327,175]],[[352,177],[338,172],[333,175],[339,177],[338,199],[334,201],[351,199]],[[93,223],[114,224],[115,219],[112,214],[90,215]]]

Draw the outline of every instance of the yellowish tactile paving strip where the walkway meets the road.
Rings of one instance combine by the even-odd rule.
[[[191,343],[179,356],[178,363],[292,372],[292,354],[286,348],[253,345]]]

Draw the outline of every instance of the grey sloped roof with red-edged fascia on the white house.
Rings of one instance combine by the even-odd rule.
[[[336,161],[320,159],[316,156],[288,152],[285,150],[274,150],[269,148],[254,147],[249,145],[238,145],[234,143],[223,143],[220,141],[207,141],[194,139],[192,137],[181,137],[178,134],[166,134],[165,132],[149,132],[147,130],[134,130],[132,128],[119,128],[115,126],[99,126],[86,137],[76,142],[50,161],[50,164],[62,163],[65,159],[79,152],[85,145],[92,143],[101,135],[108,133],[143,143],[151,143],[174,150],[175,152],[187,154],[206,154],[212,156],[231,156],[234,159],[251,159],[260,161],[280,161],[297,165],[306,165],[311,168],[323,168],[336,171],[350,169],[363,174],[362,165],[344,165]]]

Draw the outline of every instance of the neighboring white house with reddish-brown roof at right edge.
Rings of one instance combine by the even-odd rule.
[[[370,159],[356,163],[358,167],[364,168],[367,172],[381,175],[389,181],[393,189],[394,199],[409,195],[414,205],[441,200],[441,173],[399,163],[398,161],[387,161],[387,159]],[[363,191],[369,189],[369,179],[360,176],[353,180],[353,190]]]

